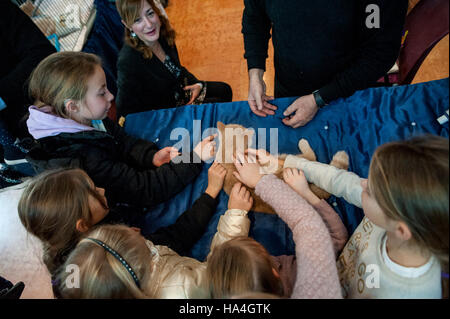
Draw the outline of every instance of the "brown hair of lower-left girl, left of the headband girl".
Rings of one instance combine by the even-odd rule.
[[[32,178],[19,200],[20,221],[42,241],[43,260],[51,274],[81,238],[77,221],[91,223],[89,196],[106,208],[89,182],[89,176],[81,169],[45,171]]]

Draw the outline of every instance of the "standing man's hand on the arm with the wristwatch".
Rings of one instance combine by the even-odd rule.
[[[283,115],[286,117],[283,123],[293,128],[304,126],[314,118],[318,110],[314,95],[299,97],[284,111]]]

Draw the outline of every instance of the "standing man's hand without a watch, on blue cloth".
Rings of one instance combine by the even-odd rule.
[[[250,69],[248,74],[248,105],[250,109],[258,116],[274,115],[277,107],[268,102],[274,98],[266,95],[266,83],[264,83],[262,78],[264,71],[261,69]]]

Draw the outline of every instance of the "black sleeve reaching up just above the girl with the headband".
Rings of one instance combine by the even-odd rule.
[[[217,199],[204,193],[173,225],[160,228],[147,236],[156,245],[165,245],[181,256],[187,256],[204,235],[217,208]]]

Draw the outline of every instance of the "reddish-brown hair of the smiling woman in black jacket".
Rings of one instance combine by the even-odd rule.
[[[175,31],[153,0],[116,0],[116,7],[120,17],[126,25],[133,25],[134,21],[139,17],[143,1],[146,1],[158,15],[161,21],[161,36],[166,39],[169,46],[173,47],[175,45]],[[139,37],[132,37],[131,31],[127,27],[125,27],[124,39],[130,47],[141,52],[144,58],[150,59],[153,56],[152,50]]]

